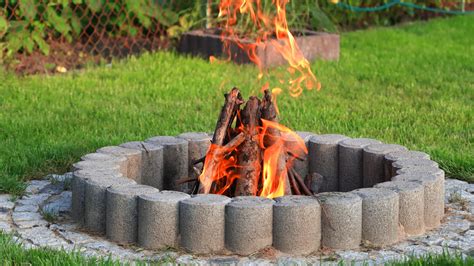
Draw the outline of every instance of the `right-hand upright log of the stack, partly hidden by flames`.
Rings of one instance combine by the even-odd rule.
[[[262,104],[261,104],[262,119],[278,122],[278,114],[275,104],[272,101],[272,96],[268,90],[265,90]],[[277,141],[281,140],[281,132],[277,128],[268,128],[266,136],[263,139],[265,148],[272,146]],[[284,175],[285,178],[285,195],[291,195],[290,179],[286,169],[286,152],[281,152],[278,158],[278,165],[276,169],[276,176]]]

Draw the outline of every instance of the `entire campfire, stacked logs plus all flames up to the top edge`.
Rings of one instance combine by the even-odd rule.
[[[288,62],[290,77],[271,90],[268,82],[262,85],[263,97],[251,96],[245,102],[240,91],[233,88],[225,95],[212,144],[203,168],[195,171],[193,193],[213,193],[227,196],[279,197],[283,195],[312,195],[309,178],[300,176],[292,168],[294,160],[307,154],[304,141],[289,128],[278,123],[276,97],[287,86],[291,96],[299,96],[303,88],[320,89],[320,84],[310,69],[288,29],[286,21],[287,0],[272,1],[272,8],[262,7],[261,1],[223,0],[219,5],[222,41],[232,57],[232,46],[245,51],[260,69],[258,80],[269,74],[262,69],[257,49],[267,49],[270,41]],[[274,11],[274,12],[273,12]],[[237,30],[239,21],[253,21],[251,32]],[[251,35],[253,41],[242,41],[242,34]],[[211,62],[216,61],[210,58]],[[285,84],[286,83],[286,84]]]

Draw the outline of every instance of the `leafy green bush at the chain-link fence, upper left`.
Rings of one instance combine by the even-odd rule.
[[[184,21],[152,0],[0,0],[0,8],[0,58],[36,50],[48,55],[50,38],[135,37]]]

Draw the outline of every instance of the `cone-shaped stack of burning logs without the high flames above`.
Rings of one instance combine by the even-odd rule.
[[[193,193],[311,195],[303,179],[291,169],[291,162],[300,159],[297,154],[301,152],[285,145],[284,134],[291,131],[278,124],[271,94],[265,91],[261,101],[250,97],[241,110],[243,103],[237,88],[225,95],[211,147],[205,158],[194,162],[204,162],[201,175],[197,180],[180,182],[197,181]]]

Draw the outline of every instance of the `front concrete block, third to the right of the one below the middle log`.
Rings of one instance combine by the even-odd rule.
[[[362,240],[375,246],[398,241],[398,194],[389,189],[352,191],[362,198]]]

